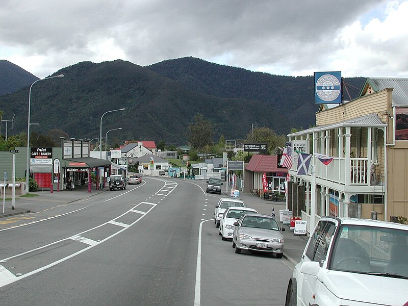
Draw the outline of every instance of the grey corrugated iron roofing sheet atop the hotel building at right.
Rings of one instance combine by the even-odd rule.
[[[408,106],[408,78],[368,78],[378,90],[393,88],[392,106]]]

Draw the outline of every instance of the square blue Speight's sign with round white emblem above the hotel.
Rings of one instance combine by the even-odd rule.
[[[341,72],[315,72],[315,104],[342,103]]]

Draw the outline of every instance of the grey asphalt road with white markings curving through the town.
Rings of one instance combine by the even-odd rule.
[[[220,196],[195,182],[143,179],[2,227],[0,304],[284,304],[293,264],[222,241]]]

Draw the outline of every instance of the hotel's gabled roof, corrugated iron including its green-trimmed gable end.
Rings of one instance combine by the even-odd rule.
[[[375,92],[393,88],[392,106],[408,106],[408,78],[367,78],[360,90],[359,97],[366,95],[367,91]]]

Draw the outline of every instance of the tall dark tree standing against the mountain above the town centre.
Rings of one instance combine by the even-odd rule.
[[[188,140],[193,148],[200,149],[206,145],[212,145],[213,123],[198,114],[188,126]]]

